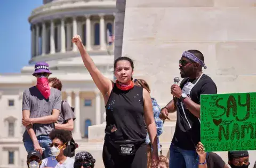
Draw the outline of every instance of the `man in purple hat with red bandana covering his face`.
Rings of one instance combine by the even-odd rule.
[[[50,74],[46,62],[37,62],[33,73],[37,84],[23,92],[22,100],[22,124],[26,126],[24,146],[28,153],[37,150],[43,158],[50,157],[49,133],[54,129],[61,106],[61,92],[49,86]]]

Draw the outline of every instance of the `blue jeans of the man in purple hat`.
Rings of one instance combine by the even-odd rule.
[[[49,143],[52,143],[51,139],[49,138],[49,136],[38,136],[37,137],[37,140],[39,142],[39,145],[42,147],[42,148],[45,148],[45,150],[43,151],[43,154],[44,154],[44,158],[46,157],[50,157],[49,154],[51,154],[51,148],[50,148],[50,145]],[[34,150],[34,144],[33,142],[31,141],[31,139],[29,140],[24,140],[24,146],[27,150],[27,152],[29,153],[30,151],[33,151]]]

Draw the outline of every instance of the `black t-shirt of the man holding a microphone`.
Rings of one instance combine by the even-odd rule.
[[[194,87],[188,95],[195,103],[200,104],[201,94],[216,94],[217,86],[212,81],[211,77],[203,74],[198,79],[185,78],[180,84],[181,89],[187,83],[191,82]],[[186,108],[179,100],[175,99],[177,107],[177,122],[172,143],[186,150],[195,150],[196,144],[200,141],[200,121]]]

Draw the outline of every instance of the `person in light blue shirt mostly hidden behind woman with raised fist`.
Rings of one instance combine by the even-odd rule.
[[[134,85],[143,87],[144,89],[146,89],[148,91],[148,93],[151,92],[150,89],[149,89],[148,83],[145,80],[143,80],[143,79],[134,79]],[[152,106],[153,106],[154,119],[155,119],[155,123],[156,123],[157,148],[158,148],[158,154],[159,154],[159,153],[161,153],[161,145],[160,145],[160,142],[159,142],[159,136],[163,133],[163,126],[164,126],[164,124],[163,124],[162,119],[159,118],[161,107],[158,105],[158,103],[157,103],[155,98],[151,97],[151,101],[152,101]],[[147,167],[151,168],[151,151],[152,151],[152,147],[151,147],[151,143],[150,143],[150,139],[149,139],[148,133],[147,133],[147,137],[146,137],[146,144],[147,144],[147,155],[148,155]],[[160,164],[160,162],[159,162],[159,164]]]

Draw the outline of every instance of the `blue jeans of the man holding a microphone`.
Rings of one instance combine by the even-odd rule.
[[[169,168],[198,168],[196,150],[185,150],[171,143]]]

